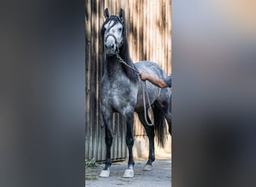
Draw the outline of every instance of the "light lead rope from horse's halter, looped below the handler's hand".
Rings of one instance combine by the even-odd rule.
[[[119,61],[126,65],[127,67],[129,67],[131,70],[135,71],[136,73],[139,73],[138,70],[136,70],[135,68],[129,66],[122,58],[120,55],[117,54],[117,58],[119,59]],[[146,92],[146,96],[147,96],[147,103],[149,105],[149,111],[151,113],[151,117],[152,117],[152,123],[149,123],[148,120],[147,120],[147,106],[146,106],[146,101],[145,101],[145,92]],[[150,103],[150,99],[149,99],[149,96],[148,96],[148,93],[147,93],[147,85],[146,85],[146,82],[142,82],[142,96],[143,96],[143,106],[144,106],[144,118],[145,118],[145,121],[147,123],[148,126],[153,126],[154,124],[154,120],[153,120],[153,110],[152,110],[152,107],[151,107],[151,103]]]

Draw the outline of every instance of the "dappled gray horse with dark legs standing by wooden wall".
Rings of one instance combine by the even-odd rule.
[[[150,105],[153,106],[154,125],[149,126],[148,114],[144,115],[144,102],[142,85],[137,72],[148,73],[159,79],[166,77],[158,64],[151,61],[140,61],[133,64],[129,55],[127,41],[127,29],[124,25],[124,10],[120,10],[119,16],[109,16],[109,10],[104,10],[106,21],[101,29],[104,40],[106,59],[104,61],[104,73],[100,81],[100,101],[103,121],[106,126],[106,164],[100,177],[109,177],[109,168],[112,165],[112,116],[118,112],[125,117],[127,125],[126,143],[129,150],[128,168],[124,177],[133,177],[132,170],[135,164],[132,156],[133,146],[133,113],[137,112],[138,118],[144,126],[149,138],[149,156],[144,171],[152,170],[152,162],[155,160],[154,136],[163,147],[165,142],[165,119],[168,122],[168,132],[171,134],[171,93],[169,88],[157,88],[150,82],[146,82]],[[121,63],[124,61],[127,66]],[[133,69],[133,70],[132,70]],[[148,108],[150,105],[146,105]],[[147,119],[145,119],[147,118]]]

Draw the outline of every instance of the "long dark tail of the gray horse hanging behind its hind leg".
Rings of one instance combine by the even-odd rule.
[[[162,111],[160,111],[160,109],[156,105],[153,105],[153,117],[154,117],[154,126],[155,126],[157,144],[160,147],[164,147],[165,140],[167,138],[165,135],[165,131],[166,131],[165,117],[162,114]]]

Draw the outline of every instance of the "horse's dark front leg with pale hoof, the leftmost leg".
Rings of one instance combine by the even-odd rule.
[[[106,143],[106,162],[105,162],[105,167],[100,173],[100,177],[109,177],[110,174],[110,166],[112,165],[112,160],[111,160],[111,147],[112,147],[112,134],[111,134],[111,123],[112,123],[112,116],[113,113],[112,111],[102,108],[102,114],[103,114],[103,121],[105,123],[106,127],[106,135],[105,135],[105,143]]]

